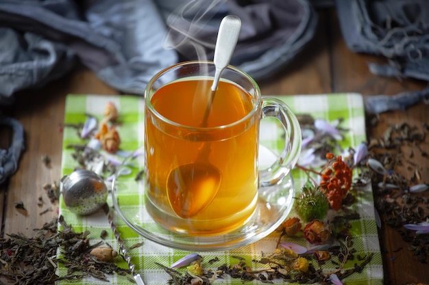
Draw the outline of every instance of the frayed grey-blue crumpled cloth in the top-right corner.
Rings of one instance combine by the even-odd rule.
[[[347,47],[356,53],[382,55],[387,64],[369,63],[369,70],[385,77],[429,81],[428,0],[336,0]],[[371,113],[406,109],[429,98],[429,88],[395,96],[367,96]]]

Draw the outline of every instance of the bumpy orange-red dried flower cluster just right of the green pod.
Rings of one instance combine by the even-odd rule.
[[[319,186],[325,192],[331,208],[338,211],[347,191],[352,187],[352,169],[343,161],[341,155],[322,172]]]

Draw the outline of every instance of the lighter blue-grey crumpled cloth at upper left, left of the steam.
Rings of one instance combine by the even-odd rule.
[[[2,0],[0,105],[77,60],[117,90],[141,93],[158,70],[177,62],[163,47],[165,33],[151,0]]]

